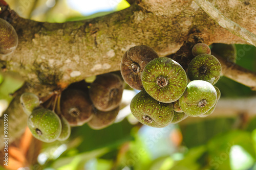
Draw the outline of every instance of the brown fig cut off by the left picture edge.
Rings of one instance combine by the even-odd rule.
[[[0,55],[11,54],[18,45],[18,36],[12,25],[0,18]]]

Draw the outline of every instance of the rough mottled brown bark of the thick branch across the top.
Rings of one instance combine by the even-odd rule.
[[[211,3],[226,17],[256,34],[255,1],[213,0]],[[16,51],[0,56],[0,64],[5,70],[19,72],[27,81],[28,88],[19,93],[29,90],[43,96],[92,75],[119,70],[124,52],[139,44],[153,47],[164,57],[195,37],[207,44],[247,43],[216,24],[191,0],[138,0],[123,11],[66,23],[20,18],[0,5],[0,17],[9,19],[19,38]],[[19,95],[7,111],[9,119],[19,117],[20,120],[10,124],[13,139],[26,125],[26,117],[19,115],[18,98]]]

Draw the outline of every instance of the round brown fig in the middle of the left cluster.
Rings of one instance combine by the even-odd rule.
[[[88,94],[82,90],[67,89],[62,91],[60,98],[61,115],[70,126],[82,126],[92,118],[92,102]]]

